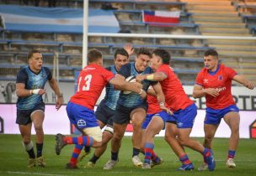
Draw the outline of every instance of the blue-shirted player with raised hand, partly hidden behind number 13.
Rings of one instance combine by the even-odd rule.
[[[124,49],[116,49],[114,54],[115,65],[110,65],[106,70],[111,71],[114,75],[120,70],[122,65],[129,62],[129,55],[132,54],[132,48],[130,45],[125,45]],[[129,53],[127,52],[129,51]],[[99,103],[95,115],[99,122],[99,127],[104,129],[102,137],[102,146],[96,148],[93,157],[90,158],[87,167],[93,168],[95,163],[98,161],[100,156],[105,152],[107,148],[107,143],[113,137],[113,116],[115,114],[115,106],[119,98],[120,91],[115,90],[114,85],[107,84],[105,86],[106,94],[104,99]],[[86,153],[85,153],[86,154]],[[84,155],[83,155],[84,156]]]

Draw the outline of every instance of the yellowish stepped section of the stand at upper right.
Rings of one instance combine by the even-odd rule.
[[[193,13],[195,23],[200,24],[200,32],[203,35],[252,36],[248,29],[250,27],[247,28],[248,25],[243,23],[243,16],[235,5],[244,1],[183,0],[182,2],[187,3],[186,8],[189,13]],[[205,43],[218,50],[224,64],[230,65],[249,79],[256,80],[255,40],[207,39]]]

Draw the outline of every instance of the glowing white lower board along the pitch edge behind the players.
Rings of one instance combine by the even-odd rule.
[[[0,132],[5,134],[19,133],[19,127],[15,123],[16,120],[16,105],[15,104],[0,104],[1,121]],[[240,111],[240,137],[249,138],[249,126],[256,121],[256,111]],[[205,110],[198,110],[198,115],[195,118],[195,125],[191,133],[192,137],[204,137],[203,122],[205,118]],[[3,125],[3,127],[2,127]],[[70,134],[71,127],[66,113],[66,106],[62,106],[59,111],[56,111],[55,106],[45,106],[45,134]],[[35,130],[33,129],[33,134]],[[131,136],[131,132],[125,132],[125,135]],[[159,133],[163,136],[164,131]],[[230,137],[230,130],[225,122],[221,122],[220,127],[216,132],[216,137]]]

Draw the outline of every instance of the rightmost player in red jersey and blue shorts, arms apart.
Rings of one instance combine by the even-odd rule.
[[[217,128],[221,122],[221,118],[227,123],[231,129],[231,137],[229,139],[229,151],[227,155],[227,167],[235,168],[235,153],[239,141],[239,109],[232,98],[231,85],[232,80],[241,83],[248,89],[254,88],[253,82],[245,79],[243,75],[237,75],[225,65],[219,64],[218,53],[214,49],[209,49],[204,55],[205,68],[200,71],[195,80],[193,96],[200,98],[205,96],[206,99],[206,116],[205,116],[205,148],[212,147],[212,140]],[[207,163],[199,168],[205,170]]]

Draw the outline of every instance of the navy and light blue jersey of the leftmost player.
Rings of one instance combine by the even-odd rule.
[[[35,74],[29,69],[29,66],[25,66],[19,70],[16,83],[23,83],[25,85],[25,89],[27,90],[44,89],[46,81],[51,79],[51,70],[49,70],[47,67],[42,67],[40,72]],[[39,94],[19,97],[17,101],[17,109],[30,110],[36,105],[40,104],[42,101],[42,96]]]

